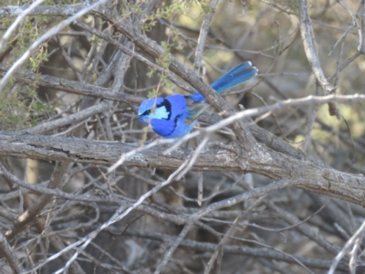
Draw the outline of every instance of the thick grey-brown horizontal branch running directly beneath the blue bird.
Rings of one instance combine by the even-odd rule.
[[[95,142],[78,138],[58,138],[17,132],[0,134],[3,156],[31,157],[47,161],[112,164],[120,155],[140,145],[120,142]],[[163,155],[158,148],[136,153],[125,159],[126,166],[177,169],[183,163],[183,151]],[[310,159],[297,160],[283,153],[267,150],[261,157],[210,148],[199,155],[194,171],[235,171],[263,174],[273,179],[289,178],[297,187],[330,195],[358,205],[365,205],[365,178],[318,165]]]

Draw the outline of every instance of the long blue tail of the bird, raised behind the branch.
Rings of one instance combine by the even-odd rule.
[[[257,74],[258,69],[252,67],[252,63],[247,61],[238,65],[235,68],[232,68],[228,72],[226,72],[220,79],[217,79],[212,84],[212,88],[216,90],[218,93],[222,93],[224,90],[228,90],[233,88],[249,79],[252,79]],[[196,92],[190,96],[189,98],[193,99],[195,102],[203,101],[205,98],[199,92]]]

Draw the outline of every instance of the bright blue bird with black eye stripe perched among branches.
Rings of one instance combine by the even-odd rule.
[[[258,69],[252,67],[251,62],[245,62],[226,72],[220,79],[212,84],[212,88],[218,93],[233,88],[246,80],[252,79]],[[183,96],[181,94],[167,97],[156,97],[144,100],[138,109],[139,119],[145,125],[150,125],[153,132],[164,138],[183,137],[193,130],[196,118],[203,112],[200,111],[205,100],[199,92]],[[196,106],[196,108],[195,108]],[[206,108],[203,108],[205,110]]]

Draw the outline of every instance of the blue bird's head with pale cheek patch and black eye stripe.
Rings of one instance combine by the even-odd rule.
[[[148,125],[151,119],[169,119],[171,117],[172,105],[169,100],[161,97],[144,100],[138,109],[138,116],[141,122]]]

